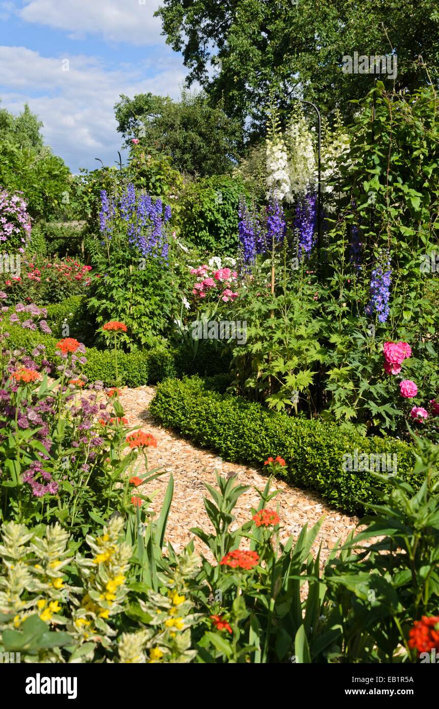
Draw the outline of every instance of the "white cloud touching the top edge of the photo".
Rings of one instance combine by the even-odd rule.
[[[25,0],[19,15],[26,22],[66,30],[73,38],[101,35],[112,42],[163,44],[159,0]]]

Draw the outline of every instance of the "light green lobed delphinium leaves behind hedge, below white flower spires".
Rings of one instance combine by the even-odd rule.
[[[230,345],[233,379],[251,398],[269,408],[294,411],[315,406],[312,392],[323,360],[322,328],[314,300],[316,278],[289,267],[287,245],[245,277],[233,316],[247,322],[247,342]],[[273,274],[273,289],[269,281]],[[273,292],[272,292],[273,290]]]

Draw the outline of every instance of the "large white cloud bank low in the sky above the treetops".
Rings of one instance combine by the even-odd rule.
[[[62,70],[65,59],[68,71]],[[172,53],[105,71],[94,57],[48,58],[23,47],[0,47],[1,105],[18,113],[27,101],[44,123],[46,142],[73,172],[80,166],[96,167],[94,157],[108,164],[116,160],[122,136],[113,107],[120,94],[151,91],[177,99],[184,77],[182,62]]]

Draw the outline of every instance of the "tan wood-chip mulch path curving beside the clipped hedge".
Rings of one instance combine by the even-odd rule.
[[[187,440],[174,432],[162,428],[152,421],[148,405],[155,395],[152,386],[140,386],[136,389],[121,389],[120,400],[128,418],[129,427],[138,426],[145,432],[150,432],[157,439],[157,449],[148,449],[148,468],[160,467],[165,474],[154,481],[143,485],[139,490],[145,495],[157,491],[150,505],[150,510],[160,513],[161,503],[170,479],[174,476],[174,497],[167,524],[166,540],[170,541],[176,552],[181,552],[185,545],[194,537],[189,531],[191,527],[201,527],[211,531],[211,523],[204,508],[203,495],[209,496],[204,482],[216,486],[215,470],[225,476],[235,475],[240,485],[248,485],[250,489],[238,499],[235,507],[235,521],[232,529],[239,527],[250,519],[251,508],[257,507],[259,496],[255,487],[262,490],[267,482],[263,466],[259,469],[246,467],[222,461],[213,452],[194,447]],[[275,452],[267,452],[275,454]],[[144,472],[140,469],[140,474]],[[307,523],[311,527],[321,517],[325,521],[321,527],[313,552],[320,545],[321,562],[324,562],[337,540],[345,540],[348,533],[355,529],[358,519],[348,517],[337,510],[328,507],[321,498],[312,492],[299,490],[282,480],[275,480],[273,487],[279,490],[272,499],[273,508],[279,505],[281,519],[281,541],[286,542],[289,536],[299,535],[301,528]],[[197,551],[209,557],[203,543],[196,539]]]

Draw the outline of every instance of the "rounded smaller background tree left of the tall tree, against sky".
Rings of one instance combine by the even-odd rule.
[[[168,96],[121,96],[115,106],[118,131],[150,153],[172,157],[173,167],[200,177],[229,172],[242,143],[240,124],[228,118],[221,102],[206,94],[183,91],[180,101]]]

